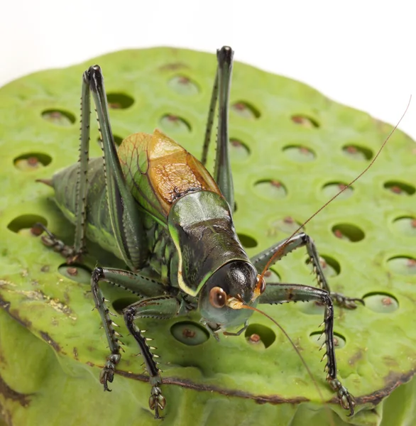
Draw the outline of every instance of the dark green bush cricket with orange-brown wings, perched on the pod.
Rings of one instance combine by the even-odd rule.
[[[248,258],[234,228],[234,188],[229,158],[229,91],[234,52],[217,50],[202,160],[185,151],[161,131],[135,133],[117,150],[111,132],[102,70],[89,67],[82,76],[80,160],[43,181],[55,189],[55,202],[75,224],[75,242],[67,246],[48,229],[43,243],[67,258],[80,259],[86,239],[121,258],[128,269],[96,267],[91,288],[95,307],[109,343],[100,374],[104,391],[121,359],[121,342],[114,329],[100,283],[117,285],[141,296],[124,308],[126,326],[136,339],[150,376],[150,410],[160,418],[166,400],[153,347],[136,320],[160,320],[199,310],[201,322],[218,339],[221,332],[239,335],[261,303],[320,302],[324,305],[325,371],[341,406],[354,414],[355,400],[337,378],[333,343],[334,302],[354,309],[361,299],[333,293],[319,263],[314,242],[304,232],[292,234]],[[90,97],[95,104],[102,158],[89,159]],[[217,153],[214,173],[204,167],[218,104]],[[72,185],[77,182],[77,185]],[[268,283],[267,268],[305,246],[318,287]],[[241,327],[239,332],[227,329]]]

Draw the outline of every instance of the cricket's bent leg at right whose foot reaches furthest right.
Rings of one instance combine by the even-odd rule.
[[[356,302],[364,305],[364,301],[358,297],[347,297],[341,293],[334,293],[329,289],[327,278],[325,278],[324,272],[322,271],[321,263],[319,262],[319,254],[317,248],[314,244],[312,238],[302,232],[296,234],[289,239],[279,241],[277,244],[269,247],[268,249],[262,251],[258,255],[251,258],[251,262],[256,266],[258,271],[263,271],[263,268],[266,267],[266,264],[276,253],[277,256],[273,259],[273,263],[279,261],[283,256],[286,256],[288,253],[300,247],[306,246],[307,254],[310,257],[312,263],[313,271],[317,276],[317,283],[319,288],[327,290],[329,292],[332,300],[336,302],[337,305],[341,307],[346,307],[348,309],[355,309],[357,307]],[[273,265],[273,263],[270,264]]]

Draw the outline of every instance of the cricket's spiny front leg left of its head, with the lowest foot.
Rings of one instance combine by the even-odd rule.
[[[134,322],[138,318],[157,318],[158,320],[168,320],[176,317],[180,313],[180,304],[175,297],[160,296],[151,297],[146,300],[140,300],[133,305],[126,307],[123,311],[124,321],[126,322],[128,331],[136,339],[138,346],[143,356],[143,362],[150,376],[150,391],[149,407],[150,410],[155,410],[155,418],[160,418],[159,410],[165,408],[166,400],[160,391],[162,378],[160,377],[160,369],[156,361],[153,359],[153,346],[148,346],[146,338],[143,337],[141,329]]]

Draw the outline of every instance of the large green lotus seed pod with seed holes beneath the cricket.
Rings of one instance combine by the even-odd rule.
[[[104,72],[116,143],[159,128],[197,158],[202,153],[215,55],[126,50],[0,89],[0,424],[158,424],[143,359],[120,316],[138,298],[105,283],[124,352],[112,392],[99,383],[108,349],[92,312],[89,275],[97,264],[124,265],[88,244],[82,263],[68,266],[31,231],[40,222],[73,242],[74,227],[51,200],[53,189],[35,181],[48,182],[77,162],[81,76],[95,63]],[[366,168],[392,130],[305,84],[239,62],[230,103],[234,224],[248,256],[290,236]],[[91,157],[102,155],[98,137],[92,121]],[[262,305],[288,332],[314,381],[280,329],[257,312],[246,332],[221,335],[220,342],[197,314],[143,320],[163,370],[164,425],[415,423],[415,153],[414,141],[395,131],[368,173],[304,229],[332,290],[366,301],[356,310],[335,307],[337,368],[356,414],[347,417],[319,364],[324,308]],[[210,171],[213,158],[212,144]],[[275,263],[266,282],[280,281],[315,285],[304,250]]]

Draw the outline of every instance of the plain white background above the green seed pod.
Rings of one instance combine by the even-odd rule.
[[[158,45],[234,58],[312,85],[416,138],[411,0],[0,1],[0,86],[123,48]]]

